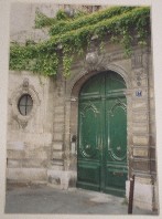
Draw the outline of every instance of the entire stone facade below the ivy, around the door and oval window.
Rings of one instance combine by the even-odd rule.
[[[33,14],[32,9],[29,14]],[[150,50],[134,46],[128,59],[120,45],[107,43],[102,53],[93,46],[85,59],[73,64],[67,80],[62,76],[62,69],[56,80],[10,71],[7,178],[48,182],[63,189],[75,187],[79,91],[93,75],[111,70],[120,74],[127,85],[129,174],[126,196],[129,196],[129,179],[134,175],[134,205],[156,209],[154,85]],[[21,116],[18,111],[22,94],[30,94],[33,100],[29,116]]]

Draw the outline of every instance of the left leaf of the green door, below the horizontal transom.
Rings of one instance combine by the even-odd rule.
[[[101,144],[101,106],[99,101],[79,105],[79,147],[77,186],[99,190]]]

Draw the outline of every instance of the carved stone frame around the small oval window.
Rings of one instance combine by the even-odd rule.
[[[21,115],[18,108],[19,101],[21,96],[23,96],[24,94],[29,94],[33,101],[33,107],[30,114],[25,116]],[[41,101],[39,98],[39,94],[35,92],[34,87],[30,85],[29,80],[24,79],[22,82],[22,85],[20,85],[9,98],[9,104],[12,107],[12,118],[15,119],[22,128],[25,128],[28,125],[28,122],[34,116],[40,103]]]

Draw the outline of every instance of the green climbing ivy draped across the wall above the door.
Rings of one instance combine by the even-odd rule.
[[[73,19],[60,11],[53,19],[42,18],[37,27],[50,27],[51,38],[25,45],[11,43],[11,70],[56,75],[62,64],[64,75],[68,76],[74,58],[86,52],[94,35],[100,48],[106,41],[120,43],[127,55],[131,54],[134,38],[143,45],[150,35],[150,9],[147,7],[114,7]]]

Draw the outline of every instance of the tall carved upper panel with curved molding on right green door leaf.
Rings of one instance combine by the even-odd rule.
[[[127,158],[127,114],[126,98],[106,102],[107,160],[126,161]]]

